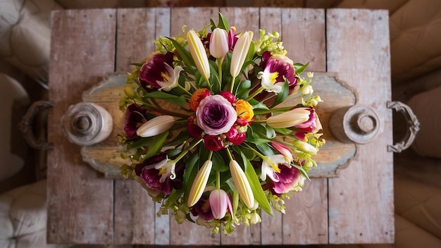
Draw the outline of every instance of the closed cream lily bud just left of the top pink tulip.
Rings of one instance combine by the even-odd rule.
[[[196,64],[197,70],[201,73],[204,80],[209,84],[210,78],[210,64],[209,58],[206,56],[206,51],[204,48],[204,44],[201,42],[201,38],[197,35],[194,30],[190,30],[187,32],[187,42],[188,48],[190,49],[190,54],[192,54],[192,58],[194,63]]]

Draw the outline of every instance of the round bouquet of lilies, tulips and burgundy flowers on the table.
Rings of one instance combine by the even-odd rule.
[[[218,25],[182,32],[156,39],[127,75],[121,174],[161,203],[159,215],[213,233],[284,213],[324,142],[313,75],[300,76],[307,64],[285,56],[277,32],[253,41],[221,13]]]

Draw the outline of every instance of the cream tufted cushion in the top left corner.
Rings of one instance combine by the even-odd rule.
[[[0,56],[36,80],[47,82],[53,0],[0,1]]]

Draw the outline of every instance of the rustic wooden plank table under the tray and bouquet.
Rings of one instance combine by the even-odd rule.
[[[60,118],[108,73],[154,51],[159,35],[201,29],[221,11],[237,30],[278,31],[294,61],[338,73],[357,104],[384,123],[375,142],[357,145],[338,178],[314,178],[287,201],[287,213],[232,235],[168,216],[132,180],[103,178],[82,161]],[[335,244],[394,242],[390,47],[387,11],[296,8],[142,8],[56,11],[52,15],[48,154],[48,242],[97,244]],[[325,103],[323,103],[325,104]],[[116,130],[111,135],[116,135]],[[107,141],[108,142],[108,141]],[[104,142],[106,144],[106,141]]]

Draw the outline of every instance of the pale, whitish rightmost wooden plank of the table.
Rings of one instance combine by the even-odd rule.
[[[330,243],[394,242],[390,46],[387,11],[329,9],[328,71],[356,89],[357,104],[383,119],[378,139],[357,147],[356,158],[329,182]]]

